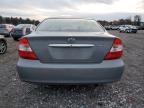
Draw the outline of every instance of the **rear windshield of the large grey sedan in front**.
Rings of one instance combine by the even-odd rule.
[[[37,31],[104,32],[104,29],[94,20],[47,19],[38,26]]]

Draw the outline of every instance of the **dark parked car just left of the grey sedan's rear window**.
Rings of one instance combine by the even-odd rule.
[[[18,40],[24,35],[28,35],[35,30],[36,26],[33,24],[19,24],[17,25],[13,32],[12,37],[14,40]]]

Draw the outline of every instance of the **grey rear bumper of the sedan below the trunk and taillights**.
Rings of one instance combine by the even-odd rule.
[[[124,63],[122,59],[117,59],[100,64],[43,64],[20,58],[17,70],[20,79],[28,82],[107,83],[120,80]]]

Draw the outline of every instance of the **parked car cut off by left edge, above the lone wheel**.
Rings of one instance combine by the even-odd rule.
[[[11,24],[0,24],[0,35],[10,36],[14,25]]]

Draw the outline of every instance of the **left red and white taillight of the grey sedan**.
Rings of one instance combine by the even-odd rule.
[[[24,59],[30,59],[30,60],[37,59],[37,56],[32,51],[29,45],[28,39],[26,37],[20,39],[18,53],[19,53],[19,56]]]

